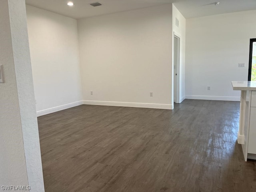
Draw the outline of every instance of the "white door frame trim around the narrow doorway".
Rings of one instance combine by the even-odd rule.
[[[172,98],[173,98],[173,104],[174,104],[174,78],[177,78],[176,82],[176,95],[175,95],[175,103],[180,103],[180,34],[177,34],[176,32],[173,32],[173,45],[172,45],[172,76],[173,76],[173,83],[172,83]],[[177,77],[176,73],[174,71],[174,38],[178,38],[178,64],[176,66],[177,71]]]

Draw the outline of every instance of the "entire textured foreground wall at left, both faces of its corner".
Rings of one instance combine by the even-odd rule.
[[[0,26],[0,186],[44,192],[25,0],[1,1]]]

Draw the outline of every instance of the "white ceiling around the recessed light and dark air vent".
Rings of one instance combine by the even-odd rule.
[[[185,18],[214,14],[256,10],[256,0],[26,0],[26,4],[52,11],[74,19],[92,17],[127,10],[174,3]],[[100,2],[102,6],[93,7],[90,3]],[[214,2],[220,2],[215,6]]]

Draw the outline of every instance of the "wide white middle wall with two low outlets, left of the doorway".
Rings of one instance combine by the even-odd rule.
[[[172,4],[80,19],[78,34],[86,104],[172,108]]]

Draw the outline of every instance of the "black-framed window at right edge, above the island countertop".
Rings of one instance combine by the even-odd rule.
[[[256,81],[256,38],[250,39],[248,81]]]

